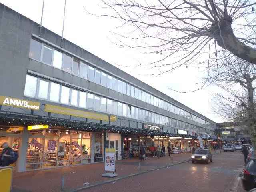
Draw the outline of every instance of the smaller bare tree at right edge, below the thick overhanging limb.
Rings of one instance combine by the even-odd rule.
[[[215,67],[210,81],[222,90],[215,95],[215,112],[228,121],[242,122],[256,147],[256,66],[241,59],[226,57],[221,67]]]

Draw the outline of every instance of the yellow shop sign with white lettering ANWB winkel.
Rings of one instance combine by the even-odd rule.
[[[0,105],[39,110],[40,104],[38,102],[27,101],[12,97],[0,96]]]

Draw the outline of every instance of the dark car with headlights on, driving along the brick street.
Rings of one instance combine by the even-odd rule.
[[[208,164],[212,162],[212,154],[208,149],[197,149],[191,156],[192,163],[194,162],[204,162]]]

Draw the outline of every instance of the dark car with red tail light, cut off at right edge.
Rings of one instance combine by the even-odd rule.
[[[251,158],[242,173],[242,185],[244,190],[256,188],[256,158]]]

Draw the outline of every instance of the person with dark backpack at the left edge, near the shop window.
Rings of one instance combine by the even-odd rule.
[[[3,143],[2,146],[4,150],[0,155],[0,166],[5,167],[16,162],[16,160],[18,159],[18,153],[14,152],[12,148],[9,147],[9,144],[7,142]]]

